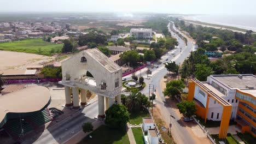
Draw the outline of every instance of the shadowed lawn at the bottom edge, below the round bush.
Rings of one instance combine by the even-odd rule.
[[[83,143],[114,143],[114,144],[129,144],[129,138],[125,129],[112,129],[106,125],[102,125],[97,128],[91,134],[92,139],[89,136],[84,137],[84,139],[78,144]]]

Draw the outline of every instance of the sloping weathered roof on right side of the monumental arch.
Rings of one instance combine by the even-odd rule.
[[[106,55],[104,55],[98,49],[88,49],[85,50],[85,52],[88,53],[88,55],[90,55],[91,57],[93,57],[98,63],[103,65],[103,67],[110,71],[110,73],[113,73],[121,69],[119,65],[111,61]]]

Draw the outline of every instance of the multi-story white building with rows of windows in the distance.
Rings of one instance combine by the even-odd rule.
[[[150,39],[152,38],[152,29],[151,28],[131,28],[130,37],[136,39]]]

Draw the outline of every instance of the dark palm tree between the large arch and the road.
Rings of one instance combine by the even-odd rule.
[[[141,92],[137,89],[133,89],[132,93],[126,100],[126,106],[129,111],[137,111],[141,108]]]

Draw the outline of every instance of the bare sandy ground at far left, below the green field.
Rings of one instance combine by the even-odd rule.
[[[33,53],[0,51],[0,70],[24,69],[26,65],[38,65],[50,62],[54,57]]]

